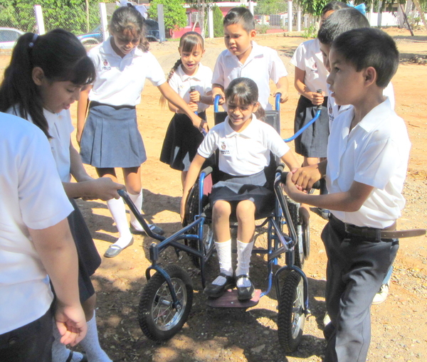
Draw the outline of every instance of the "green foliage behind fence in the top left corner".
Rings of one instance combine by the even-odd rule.
[[[36,31],[34,5],[41,5],[46,31],[64,28],[72,33],[86,33],[99,25],[98,0],[89,0],[89,24],[85,0],[0,0],[0,26]]]

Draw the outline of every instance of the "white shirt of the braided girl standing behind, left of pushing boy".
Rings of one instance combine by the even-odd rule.
[[[212,90],[212,70],[205,65],[199,63],[199,69],[194,75],[186,75],[182,70],[182,65],[176,68],[175,73],[169,80],[169,85],[179,94],[186,103],[190,102],[190,87],[196,87],[196,90],[201,95],[206,95]],[[209,105],[202,102],[198,103],[197,112],[204,112]]]

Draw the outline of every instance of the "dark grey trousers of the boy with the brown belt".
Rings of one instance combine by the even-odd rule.
[[[399,240],[351,235],[330,218],[322,231],[327,252],[325,362],[364,362],[371,341],[371,303],[393,263]]]

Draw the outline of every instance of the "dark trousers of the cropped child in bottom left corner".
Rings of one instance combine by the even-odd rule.
[[[52,312],[0,334],[0,362],[51,362],[52,361]]]

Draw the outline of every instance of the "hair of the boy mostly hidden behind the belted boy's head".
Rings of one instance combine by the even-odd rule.
[[[331,45],[339,34],[358,28],[369,28],[367,17],[354,8],[339,9],[325,20],[317,33],[317,38],[320,43]]]

